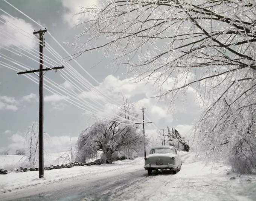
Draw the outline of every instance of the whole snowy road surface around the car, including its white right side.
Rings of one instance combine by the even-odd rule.
[[[0,198],[4,201],[256,201],[256,175],[227,174],[229,169],[223,165],[210,170],[211,167],[204,168],[201,161],[195,160],[193,154],[184,154],[182,159],[181,171],[175,175],[163,171],[148,177],[143,165],[136,162],[124,169],[109,169],[3,193]]]

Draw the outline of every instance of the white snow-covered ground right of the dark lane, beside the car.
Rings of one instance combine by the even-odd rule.
[[[109,200],[256,201],[256,175],[237,175],[229,167],[204,167],[194,154],[183,154],[177,174],[162,171],[149,180],[116,190]]]

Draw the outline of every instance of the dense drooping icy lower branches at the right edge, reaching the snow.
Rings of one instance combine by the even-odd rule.
[[[239,173],[256,173],[256,95],[254,72],[250,81],[227,79],[222,89],[196,124],[196,145],[206,161],[222,160]],[[244,78],[237,74],[236,78]],[[218,100],[219,99],[219,100]]]

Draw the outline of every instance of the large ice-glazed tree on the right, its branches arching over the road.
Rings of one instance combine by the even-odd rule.
[[[243,170],[241,164],[232,165],[238,172],[252,172],[256,140],[248,133],[253,133],[256,105],[255,1],[107,2],[81,8],[87,18],[78,25],[83,30],[72,58],[101,50],[114,58],[112,66],[136,72],[138,80],[154,80],[158,96],[170,104],[187,89],[196,90],[204,109],[195,127],[197,144],[207,144],[209,160],[220,152],[230,163],[251,160]],[[87,42],[79,43],[84,38]]]

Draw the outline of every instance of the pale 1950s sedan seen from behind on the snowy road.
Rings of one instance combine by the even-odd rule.
[[[144,168],[148,171],[148,175],[151,175],[152,171],[158,171],[158,169],[169,169],[176,174],[182,165],[177,148],[168,145],[152,147],[148,157],[144,159]]]

